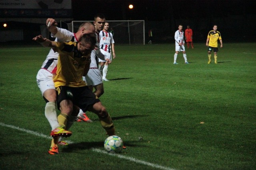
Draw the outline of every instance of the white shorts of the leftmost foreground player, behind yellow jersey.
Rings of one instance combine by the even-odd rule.
[[[44,91],[48,89],[54,89],[54,82],[52,79],[52,73],[50,71],[47,71],[46,69],[40,69],[36,75],[36,83],[42,93],[44,94]]]

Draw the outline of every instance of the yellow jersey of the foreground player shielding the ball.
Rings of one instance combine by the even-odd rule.
[[[59,53],[55,87],[82,87],[87,84],[82,80],[84,67],[90,62],[90,54],[83,56],[77,49],[77,42],[55,42],[55,52]]]

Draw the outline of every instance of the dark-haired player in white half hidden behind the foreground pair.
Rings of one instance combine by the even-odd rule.
[[[85,77],[83,79],[86,81],[89,89],[93,91],[95,89],[94,94],[97,97],[100,97],[104,93],[104,87],[102,82],[102,75],[100,73],[100,70],[98,69],[98,57],[100,57],[100,37],[99,32],[103,29],[104,24],[106,22],[105,16],[103,14],[96,14],[94,16],[94,26],[95,26],[95,32],[96,32],[96,46],[97,50],[93,50],[91,53],[91,63],[90,63],[90,69]],[[102,58],[102,57],[100,57]],[[103,57],[103,60],[106,60],[106,56]],[[108,59],[108,63],[111,63],[111,61]]]

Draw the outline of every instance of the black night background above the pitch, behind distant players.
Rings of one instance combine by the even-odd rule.
[[[106,20],[145,20],[145,37],[153,29],[153,43],[174,43],[178,24],[193,30],[194,42],[205,42],[214,24],[223,42],[255,42],[255,0],[72,0],[73,20],[93,20],[103,13]],[[134,8],[128,8],[132,4]],[[54,16],[52,16],[54,18]],[[60,18],[61,19],[61,18]],[[45,18],[46,20],[46,18]],[[60,20],[59,20],[60,21]],[[58,22],[59,22],[58,21]],[[22,29],[24,41],[40,34],[42,23],[8,22],[8,28]]]

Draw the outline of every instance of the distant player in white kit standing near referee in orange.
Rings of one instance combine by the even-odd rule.
[[[188,64],[187,55],[186,55],[185,46],[184,46],[184,44],[185,44],[184,32],[182,31],[182,28],[183,28],[183,26],[180,24],[178,27],[178,30],[174,34],[175,51],[176,51],[174,54],[174,64],[178,64],[176,62],[176,59],[178,57],[179,51],[182,51],[185,63]]]

